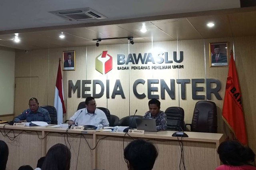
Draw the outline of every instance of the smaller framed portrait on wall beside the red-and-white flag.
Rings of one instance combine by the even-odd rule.
[[[76,51],[63,51],[63,70],[76,70]]]

